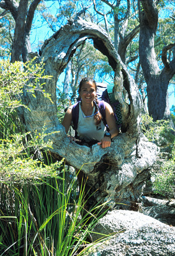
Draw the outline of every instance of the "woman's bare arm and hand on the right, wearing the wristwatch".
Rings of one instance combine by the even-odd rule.
[[[106,112],[106,122],[108,128],[110,129],[109,133],[111,134],[111,139],[118,135],[117,124],[115,122],[114,112],[111,106],[105,102],[105,112]],[[101,147],[106,148],[111,146],[111,139],[110,137],[104,136],[103,139],[97,144],[101,144]]]

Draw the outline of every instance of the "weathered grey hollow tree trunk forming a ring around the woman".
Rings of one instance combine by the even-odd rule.
[[[96,49],[108,57],[108,62],[115,71],[114,94],[121,103],[122,130],[125,132],[115,137],[109,148],[101,148],[97,144],[89,148],[70,143],[57,118],[57,79],[76,48],[86,39],[93,40]],[[42,132],[43,128],[46,129],[46,140],[53,141],[50,151],[64,157],[72,166],[82,168],[87,175],[87,186],[91,188],[91,192],[96,191],[93,201],[110,200],[111,206],[120,202],[131,207],[141,196],[148,175],[147,169],[155,161],[156,146],[141,136],[141,96],[106,30],[77,18],[46,40],[41,53],[38,61],[44,58],[44,72],[53,76],[51,80],[46,80],[44,85],[53,102],[44,98],[38,91],[36,98],[25,92],[23,101],[30,111],[20,109],[20,117],[26,129],[31,132]],[[126,103],[123,97],[124,88],[128,92],[129,103]]]

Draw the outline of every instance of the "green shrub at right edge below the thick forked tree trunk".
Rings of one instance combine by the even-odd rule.
[[[166,198],[175,196],[175,136],[167,120],[153,122],[152,117],[142,116],[142,131],[149,141],[160,147],[159,170],[153,173],[155,176],[155,193]]]

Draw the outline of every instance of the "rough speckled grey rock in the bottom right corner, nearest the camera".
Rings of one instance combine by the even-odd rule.
[[[99,244],[87,256],[174,256],[174,237],[175,231],[172,227],[143,226],[118,234],[106,244]]]

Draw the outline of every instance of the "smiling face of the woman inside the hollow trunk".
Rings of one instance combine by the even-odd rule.
[[[83,82],[79,89],[82,102],[90,103],[95,100],[96,85],[92,81]]]

